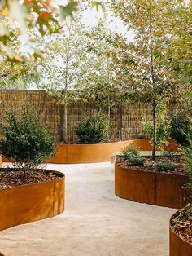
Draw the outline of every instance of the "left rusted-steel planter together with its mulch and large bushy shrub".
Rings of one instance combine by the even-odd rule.
[[[45,170],[55,154],[37,108],[27,102],[7,112],[1,124],[0,153],[13,167],[0,169],[0,230],[50,218],[64,210],[64,174]]]

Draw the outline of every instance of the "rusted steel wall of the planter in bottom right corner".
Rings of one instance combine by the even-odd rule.
[[[177,214],[177,213],[176,213]],[[172,218],[174,218],[172,215]],[[183,240],[180,236],[172,230],[171,220],[169,223],[169,255],[170,256],[191,256],[192,255],[192,244]]]

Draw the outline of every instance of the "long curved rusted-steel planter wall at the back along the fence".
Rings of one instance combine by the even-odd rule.
[[[111,161],[111,155],[120,152],[121,148],[128,145],[135,145],[142,151],[151,151],[149,139],[129,139],[113,143],[98,144],[63,144],[57,147],[57,154],[50,159],[54,164],[76,164]],[[177,145],[173,139],[170,145],[164,150],[177,151]],[[8,161],[3,158],[3,161]]]

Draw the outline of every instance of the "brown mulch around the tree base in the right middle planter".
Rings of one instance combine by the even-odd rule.
[[[116,157],[116,165],[121,166],[123,168],[127,168],[131,166],[134,170],[143,170],[143,171],[152,171],[155,172],[157,161],[159,160],[167,160],[171,161],[175,166],[174,171],[164,171],[164,173],[173,173],[173,174],[185,174],[185,165],[181,162],[181,157],[178,155],[168,156],[168,157],[156,157],[156,161],[152,160],[152,157],[146,157],[144,160],[143,166],[133,166],[129,163],[129,160],[124,160],[124,157],[118,156]]]

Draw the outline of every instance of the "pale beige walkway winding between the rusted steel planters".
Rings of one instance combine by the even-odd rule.
[[[168,256],[168,219],[175,210],[115,196],[111,163],[47,169],[66,174],[66,210],[55,218],[0,232],[2,254]]]

